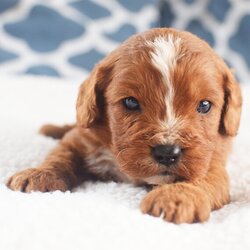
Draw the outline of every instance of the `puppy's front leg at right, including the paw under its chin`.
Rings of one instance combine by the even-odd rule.
[[[142,201],[141,210],[178,224],[203,222],[209,218],[212,209],[228,203],[228,189],[225,169],[214,167],[198,181],[156,187]]]

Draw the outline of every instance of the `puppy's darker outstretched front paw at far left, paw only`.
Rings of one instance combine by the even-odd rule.
[[[70,184],[65,178],[63,179],[53,169],[35,169],[30,168],[21,171],[7,182],[7,186],[14,191],[31,192],[50,192],[55,190],[67,191]]]

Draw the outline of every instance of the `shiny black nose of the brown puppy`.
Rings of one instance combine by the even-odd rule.
[[[154,159],[165,166],[177,163],[181,156],[181,148],[178,145],[156,145],[152,149]]]

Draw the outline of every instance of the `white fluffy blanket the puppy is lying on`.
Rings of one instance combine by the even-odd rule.
[[[145,195],[127,184],[87,183],[73,192],[12,192],[6,179],[34,167],[56,145],[37,134],[74,121],[80,81],[0,76],[0,249],[250,249],[250,86],[242,86],[240,133],[228,163],[229,205],[204,224],[174,225],[143,215]]]

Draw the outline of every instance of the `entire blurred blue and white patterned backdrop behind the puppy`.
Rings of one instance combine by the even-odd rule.
[[[127,37],[159,26],[197,34],[249,82],[249,0],[0,0],[0,74],[83,79]]]

